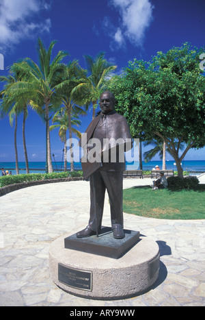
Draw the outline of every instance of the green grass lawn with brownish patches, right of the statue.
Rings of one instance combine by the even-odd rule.
[[[157,219],[205,219],[205,186],[196,190],[152,190],[151,187],[123,191],[123,211]]]

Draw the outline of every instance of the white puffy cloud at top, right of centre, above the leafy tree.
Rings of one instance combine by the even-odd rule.
[[[154,6],[150,0],[111,0],[120,13],[120,27],[115,29],[113,40],[122,47],[125,40],[135,46],[143,44],[146,29],[152,22]]]

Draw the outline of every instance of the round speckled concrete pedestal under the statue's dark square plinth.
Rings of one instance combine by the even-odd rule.
[[[147,291],[159,275],[159,246],[143,237],[119,259],[64,248],[64,238],[50,247],[51,278],[59,288],[88,299],[124,299]]]

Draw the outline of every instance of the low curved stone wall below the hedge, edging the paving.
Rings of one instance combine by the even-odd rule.
[[[38,186],[39,184],[52,184],[56,182],[68,182],[68,181],[80,181],[83,180],[83,177],[65,177],[60,179],[52,179],[52,180],[36,180],[30,182],[23,182],[20,184],[10,184],[8,186],[3,186],[0,188],[0,197],[6,195],[7,193],[11,193],[13,191],[27,188],[28,186]]]

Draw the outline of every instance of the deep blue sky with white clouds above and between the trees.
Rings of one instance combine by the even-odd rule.
[[[77,59],[83,68],[84,55],[95,57],[104,51],[120,73],[134,58],[148,61],[157,51],[166,52],[184,42],[204,46],[204,12],[204,0],[0,0],[0,53],[4,57],[0,75],[7,74],[6,67],[19,58],[37,62],[39,37],[46,47],[57,40],[53,53],[68,51],[70,56],[64,62]],[[91,119],[92,112],[82,118],[81,132]],[[19,116],[19,161],[24,161],[22,120]],[[45,124],[29,110],[29,161],[45,161],[45,135]],[[0,120],[0,136],[0,162],[14,161],[14,127],[8,118]],[[63,148],[58,131],[51,132],[51,152],[56,161],[61,161]],[[205,148],[190,150],[184,160],[205,160]]]

